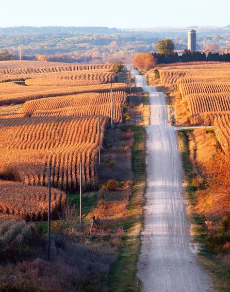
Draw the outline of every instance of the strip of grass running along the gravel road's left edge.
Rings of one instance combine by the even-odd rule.
[[[136,292],[139,282],[136,278],[136,262],[141,246],[140,231],[143,219],[143,204],[145,192],[145,138],[146,132],[142,127],[134,126],[134,143],[132,147],[132,170],[134,185],[128,206],[129,218],[124,222],[126,230],[123,248],[119,260],[112,267],[111,291]]]

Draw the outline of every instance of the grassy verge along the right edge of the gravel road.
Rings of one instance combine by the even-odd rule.
[[[184,184],[188,201],[188,214],[192,225],[192,235],[194,243],[199,245],[198,260],[211,275],[214,291],[230,292],[230,271],[215,260],[213,254],[205,247],[207,231],[204,219],[195,210],[197,205],[197,188],[193,185],[193,180],[196,177],[193,174],[193,167],[189,158],[188,137],[184,131],[178,131],[177,135],[184,169]]]

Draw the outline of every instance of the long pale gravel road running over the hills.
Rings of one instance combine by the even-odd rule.
[[[213,291],[206,272],[190,245],[189,225],[181,190],[181,161],[175,129],[168,125],[164,94],[146,87],[135,75],[136,86],[149,94],[147,190],[144,228],[137,276],[144,292]]]

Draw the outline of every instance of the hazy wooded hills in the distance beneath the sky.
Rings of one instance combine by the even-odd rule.
[[[187,48],[187,30],[120,30],[106,27],[12,27],[0,28],[0,53],[22,59],[59,62],[132,61],[136,53],[156,52],[157,42],[173,40],[176,50]],[[197,28],[197,49],[230,53],[230,28]],[[7,58],[8,58],[7,57]]]

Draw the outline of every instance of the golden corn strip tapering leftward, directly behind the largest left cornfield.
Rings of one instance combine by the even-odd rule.
[[[121,121],[121,106],[125,103],[125,92],[113,92],[115,121]],[[20,113],[32,116],[87,116],[103,115],[111,118],[111,94],[82,93],[27,101]]]

